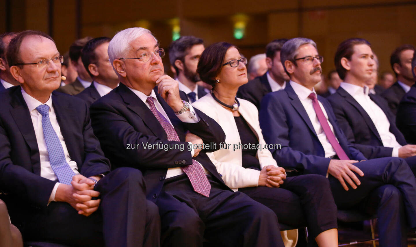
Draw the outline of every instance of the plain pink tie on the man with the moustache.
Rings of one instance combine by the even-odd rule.
[[[319,106],[318,99],[316,98],[316,95],[314,93],[309,94],[308,96],[310,99],[312,99],[312,105],[315,109],[316,116],[318,117],[319,123],[321,123],[322,129],[325,132],[325,135],[328,138],[329,143],[331,143],[332,147],[335,150],[335,153],[337,153],[337,156],[340,160],[349,160],[347,154],[344,152],[344,149],[342,149],[341,145],[339,145],[337,139],[335,138],[334,133],[332,133],[331,128],[329,127],[327,118],[324,115],[324,112],[321,109],[321,106]]]

